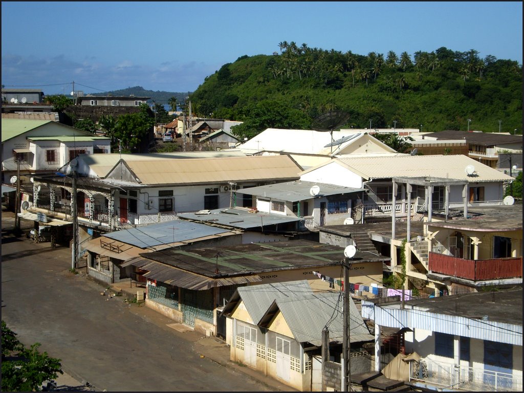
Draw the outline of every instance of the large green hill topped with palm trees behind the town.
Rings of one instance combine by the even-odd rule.
[[[243,56],[190,95],[193,113],[244,121],[237,133],[268,126],[309,128],[325,112],[351,115],[346,128],[422,128],[522,133],[522,65],[478,52],[351,51],[279,44],[281,54]],[[501,123],[499,123],[501,121]],[[421,126],[422,125],[422,126]]]

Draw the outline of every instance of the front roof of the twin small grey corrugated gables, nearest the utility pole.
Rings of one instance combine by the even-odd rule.
[[[298,342],[320,345],[322,330],[327,326],[330,341],[342,341],[344,336],[343,292],[316,292],[292,298],[279,298],[271,305],[259,325],[268,327],[277,309],[282,313],[294,338]],[[370,341],[374,336],[364,323],[353,299],[349,302],[350,340]],[[304,323],[307,321],[307,323]]]

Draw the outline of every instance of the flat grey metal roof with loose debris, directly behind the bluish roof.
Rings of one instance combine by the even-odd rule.
[[[301,220],[299,217],[275,213],[250,213],[249,210],[243,208],[214,209],[209,212],[210,214],[182,213],[179,214],[179,217],[182,220],[208,222],[242,229],[260,228]]]

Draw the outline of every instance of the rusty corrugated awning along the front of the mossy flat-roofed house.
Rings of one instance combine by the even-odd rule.
[[[228,285],[247,284],[249,282],[260,282],[262,279],[257,275],[237,277],[205,277],[187,270],[181,270],[173,266],[162,264],[151,259],[135,257],[125,261],[121,267],[136,266],[147,270],[144,277],[157,280],[169,285],[191,290],[205,290]]]

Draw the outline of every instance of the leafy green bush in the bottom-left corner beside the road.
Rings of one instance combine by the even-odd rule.
[[[40,343],[25,348],[2,321],[2,391],[40,390],[44,381],[63,374],[60,359],[40,353]]]

